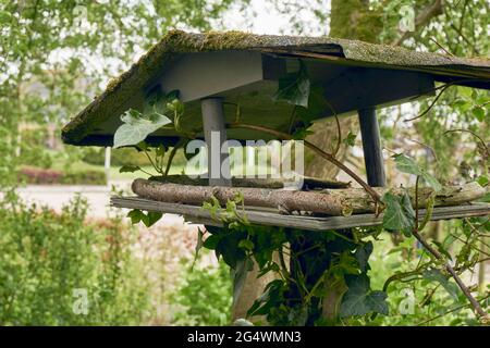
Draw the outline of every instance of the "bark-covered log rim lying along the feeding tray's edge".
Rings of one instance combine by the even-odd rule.
[[[375,188],[379,196],[390,190],[395,195],[403,195],[405,189]],[[346,213],[376,212],[376,206],[369,194],[362,188],[323,189],[321,191],[302,191],[284,189],[265,189],[250,187],[193,186],[177,184],[162,184],[143,178],[133,182],[132,190],[142,198],[169,203],[185,203],[201,206],[211,198],[224,206],[226,201],[235,199],[240,194],[245,206],[277,208],[285,213],[305,211],[328,215],[345,215]],[[408,189],[413,198],[414,189]],[[418,207],[424,208],[430,188],[419,189]],[[463,186],[446,186],[436,196],[436,207],[455,206],[477,200],[486,194],[485,188],[476,183]],[[415,203],[414,203],[415,206]]]

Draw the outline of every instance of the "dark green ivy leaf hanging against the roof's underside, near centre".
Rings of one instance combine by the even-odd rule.
[[[278,91],[272,100],[308,108],[309,78],[306,65],[299,61],[299,71],[279,78]]]

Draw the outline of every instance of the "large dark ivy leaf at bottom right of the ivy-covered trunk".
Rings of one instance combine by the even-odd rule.
[[[360,275],[346,275],[345,283],[348,287],[340,309],[340,315],[365,315],[371,312],[388,314],[387,294],[384,291],[371,291],[369,277]]]

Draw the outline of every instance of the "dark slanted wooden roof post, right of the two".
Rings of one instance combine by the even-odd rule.
[[[372,187],[387,186],[387,176],[384,174],[383,153],[381,149],[378,119],[376,117],[376,109],[363,109],[359,110],[358,113],[367,182]]]

